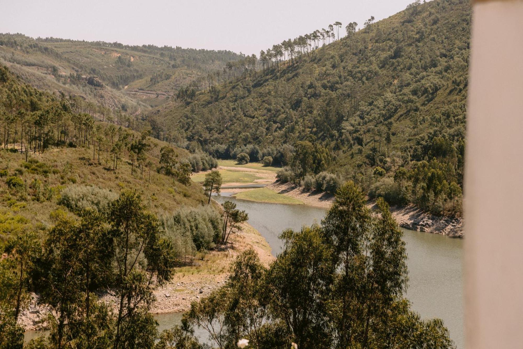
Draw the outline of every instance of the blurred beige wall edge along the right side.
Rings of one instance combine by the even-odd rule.
[[[471,49],[465,339],[523,348],[523,2],[476,2]]]

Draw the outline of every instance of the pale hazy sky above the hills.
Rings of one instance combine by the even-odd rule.
[[[413,1],[1,0],[0,32],[258,55],[337,20],[363,27],[370,16],[389,17]]]

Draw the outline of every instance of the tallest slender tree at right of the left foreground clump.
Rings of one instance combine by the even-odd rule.
[[[154,343],[154,319],[148,312],[153,290],[170,279],[175,267],[172,242],[162,237],[156,216],[141,201],[137,191],[124,190],[109,217],[118,297],[115,348]],[[133,323],[145,326],[146,337],[135,336]]]

